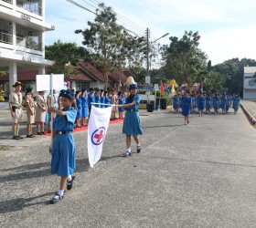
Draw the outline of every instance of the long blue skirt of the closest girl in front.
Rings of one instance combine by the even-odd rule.
[[[58,176],[72,175],[76,169],[76,149],[71,133],[56,135],[52,144],[51,174]]]

